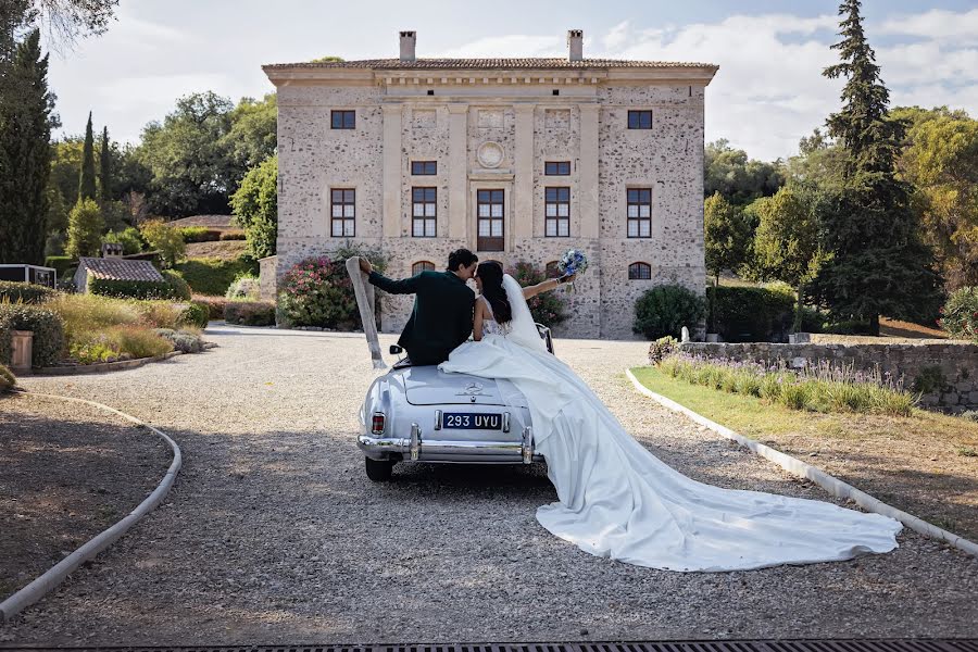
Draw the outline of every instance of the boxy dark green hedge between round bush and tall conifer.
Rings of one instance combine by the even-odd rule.
[[[715,299],[714,299],[715,297]],[[794,321],[794,294],[787,286],[719,286],[710,292],[724,341],[785,341]]]

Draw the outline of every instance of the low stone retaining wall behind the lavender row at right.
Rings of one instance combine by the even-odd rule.
[[[841,344],[805,342],[686,342],[686,353],[743,362],[785,361],[800,367],[807,361],[829,361],[855,371],[889,373],[907,389],[923,391],[920,404],[952,413],[978,410],[978,344],[966,342],[914,344]]]

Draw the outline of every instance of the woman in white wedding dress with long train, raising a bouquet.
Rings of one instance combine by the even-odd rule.
[[[666,570],[741,570],[848,560],[896,548],[901,525],[798,498],[687,478],[631,438],[566,364],[549,354],[522,289],[481,263],[473,338],[439,368],[505,378],[526,397],[537,452],[559,502],[537,510],[555,536],[598,556]]]

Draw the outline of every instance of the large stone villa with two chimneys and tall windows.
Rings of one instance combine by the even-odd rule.
[[[459,247],[540,268],[591,266],[559,335],[631,338],[656,284],[704,291],[703,98],[717,66],[585,59],[400,58],[264,66],[278,89],[278,255],[266,286],[346,239],[388,275],[443,268]],[[385,331],[409,297],[385,296]]]

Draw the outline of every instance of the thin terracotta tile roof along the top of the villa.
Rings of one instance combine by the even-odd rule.
[[[273,63],[264,68],[310,67],[310,68],[371,68],[391,71],[412,70],[581,70],[618,67],[717,67],[712,63],[684,63],[670,61],[628,61],[624,59],[362,59],[359,61],[324,61],[322,63]]]

